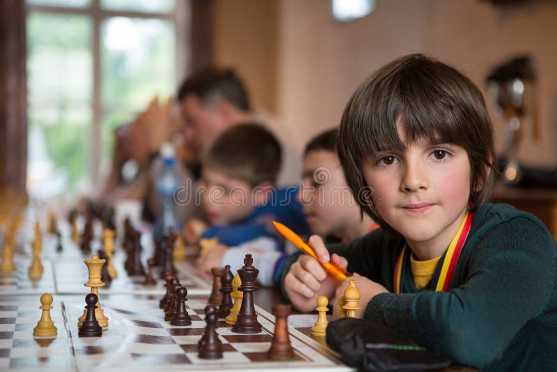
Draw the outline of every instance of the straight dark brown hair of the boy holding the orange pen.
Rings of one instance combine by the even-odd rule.
[[[373,206],[362,166],[380,151],[404,150],[397,123],[405,126],[407,143],[427,138],[464,148],[471,168],[471,210],[489,199],[494,140],[482,93],[454,68],[410,54],[368,77],[348,101],[340,122],[338,156],[363,212],[389,227]]]

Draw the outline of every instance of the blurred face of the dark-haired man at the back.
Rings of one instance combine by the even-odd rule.
[[[228,127],[219,104],[205,107],[196,95],[186,95],[180,102],[180,111],[184,119],[185,141],[199,151],[205,150]]]

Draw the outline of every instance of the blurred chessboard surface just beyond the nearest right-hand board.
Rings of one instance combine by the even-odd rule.
[[[166,288],[164,280],[158,279],[155,286],[145,286],[145,277],[130,277],[123,268],[123,262],[114,260],[118,277],[111,281],[110,286],[99,289],[101,295],[110,294],[140,294],[140,295],[164,295]],[[189,295],[209,295],[211,293],[210,284],[201,277],[198,277],[195,268],[186,261],[175,263],[178,270],[180,284],[187,288]],[[56,288],[61,294],[86,294],[88,288],[84,286],[88,281],[87,266],[83,259],[76,261],[56,261],[54,262],[54,276]],[[153,277],[158,278],[158,272],[153,272]]]

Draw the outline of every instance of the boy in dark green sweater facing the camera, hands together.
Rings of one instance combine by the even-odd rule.
[[[339,282],[298,256],[283,286],[299,311],[356,279],[357,316],[458,364],[557,370],[556,242],[532,215],[486,203],[493,130],[473,82],[419,54],[385,65],[350,98],[338,153],[382,228],[333,254],[313,236],[317,256],[354,277]]]

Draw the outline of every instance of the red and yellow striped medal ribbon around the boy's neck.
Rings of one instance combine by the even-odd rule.
[[[441,267],[441,272],[437,278],[437,284],[435,285],[435,290],[448,290],[450,284],[450,278],[453,277],[453,272],[455,272],[455,267],[457,265],[458,258],[460,257],[460,252],[462,247],[464,247],[464,242],[468,238],[468,233],[470,232],[470,227],[472,225],[472,214],[466,212],[460,228],[458,228],[457,234],[450,242],[447,251],[445,252],[445,257],[443,258],[443,266]],[[398,256],[398,260],[395,265],[395,275],[393,278],[395,293],[400,293],[400,278],[402,277],[402,261],[405,260],[406,255],[406,245],[402,247],[402,251]]]

